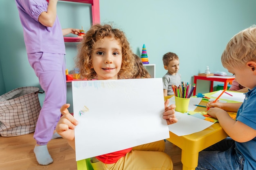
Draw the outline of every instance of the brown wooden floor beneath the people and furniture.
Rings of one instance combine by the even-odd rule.
[[[76,170],[75,152],[64,139],[48,143],[54,160],[48,166],[37,163],[33,152],[35,144],[33,133],[17,137],[0,136],[0,170]],[[165,152],[172,158],[174,170],[182,170],[181,149],[166,141]]]

